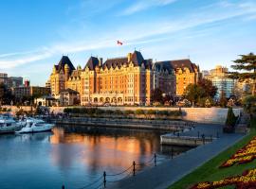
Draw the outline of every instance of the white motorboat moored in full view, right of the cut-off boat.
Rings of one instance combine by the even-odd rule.
[[[47,124],[41,119],[27,118],[25,127],[16,131],[16,133],[44,132],[50,131],[53,127],[53,124]]]

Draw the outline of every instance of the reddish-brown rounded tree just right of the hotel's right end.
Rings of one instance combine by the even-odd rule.
[[[217,93],[217,90],[218,90],[217,87],[213,86],[211,80],[209,79],[202,78],[201,80],[198,81],[198,85],[204,91],[203,97],[213,98]]]

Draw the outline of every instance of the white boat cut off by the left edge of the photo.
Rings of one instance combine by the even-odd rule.
[[[12,117],[0,116],[0,134],[14,133],[18,129],[21,126]]]

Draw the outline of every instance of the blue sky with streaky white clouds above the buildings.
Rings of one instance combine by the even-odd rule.
[[[209,70],[256,53],[255,0],[2,0],[0,24],[0,72],[33,85],[63,55],[83,68],[136,49]]]

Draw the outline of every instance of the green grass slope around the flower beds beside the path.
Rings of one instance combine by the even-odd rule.
[[[255,161],[245,164],[234,164],[230,167],[219,168],[219,166],[227,161],[238,149],[247,145],[247,143],[256,135],[256,119],[252,122],[252,127],[249,134],[234,146],[229,147],[224,152],[212,158],[209,162],[204,163],[192,173],[185,176],[181,180],[176,181],[169,189],[186,189],[192,187],[193,184],[201,181],[222,180],[229,176],[241,175],[245,170],[256,168]],[[233,188],[232,186],[223,188]]]

